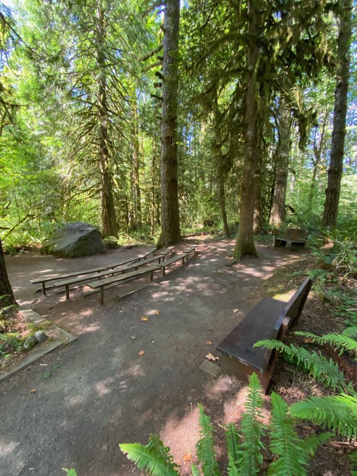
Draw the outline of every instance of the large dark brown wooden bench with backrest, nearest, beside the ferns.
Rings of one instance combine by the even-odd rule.
[[[312,280],[307,278],[288,302],[265,298],[254,307],[216,347],[222,353],[222,371],[243,381],[256,372],[266,391],[277,353],[253,345],[262,339],[284,339],[287,330],[297,323],[311,285]]]

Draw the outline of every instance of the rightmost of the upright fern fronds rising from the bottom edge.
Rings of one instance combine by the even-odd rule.
[[[269,474],[274,476],[301,476],[307,474],[307,452],[301,451],[301,440],[294,430],[288,405],[281,396],[272,392],[272,419],[270,424],[270,450],[278,459],[271,463]]]

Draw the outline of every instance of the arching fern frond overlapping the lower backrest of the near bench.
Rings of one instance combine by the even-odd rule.
[[[353,391],[353,387],[348,385],[344,379],[343,372],[339,366],[332,360],[327,360],[316,352],[309,352],[303,347],[295,347],[285,345],[279,340],[259,340],[253,347],[266,347],[282,352],[284,358],[291,363],[296,363],[309,372],[318,382],[326,387],[338,389],[339,391]]]

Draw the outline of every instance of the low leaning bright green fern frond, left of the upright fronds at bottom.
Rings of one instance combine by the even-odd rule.
[[[173,463],[170,448],[165,447],[160,436],[150,435],[146,445],[141,443],[119,444],[119,448],[139,468],[154,476],[176,476],[179,466]]]

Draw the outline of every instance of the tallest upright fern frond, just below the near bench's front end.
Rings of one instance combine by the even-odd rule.
[[[242,476],[258,474],[263,464],[261,449],[264,448],[262,443],[264,425],[258,419],[262,416],[262,405],[262,386],[257,374],[253,373],[249,378],[248,396],[241,426],[243,441],[239,445],[238,464]]]

